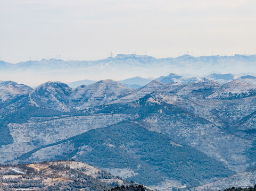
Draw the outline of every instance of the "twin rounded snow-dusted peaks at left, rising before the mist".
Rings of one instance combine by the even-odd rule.
[[[81,85],[73,90],[62,82],[46,82],[29,90],[23,92],[23,97],[12,102],[9,107],[16,108],[29,105],[58,111],[80,110],[104,105],[131,91],[113,80],[102,80],[90,85]],[[4,95],[4,93],[5,91],[2,94]]]

